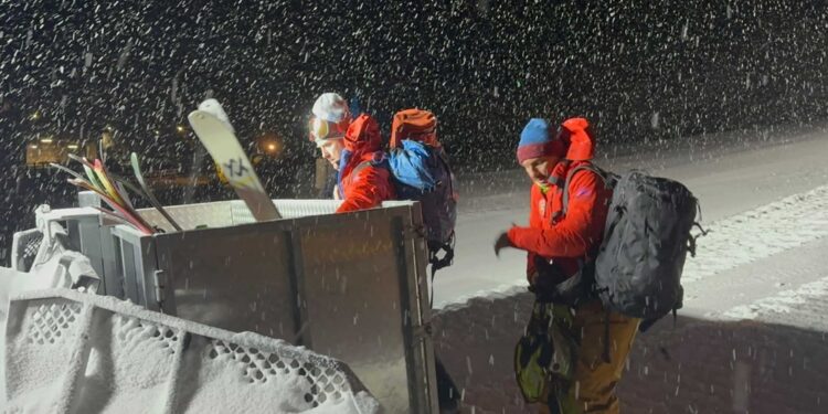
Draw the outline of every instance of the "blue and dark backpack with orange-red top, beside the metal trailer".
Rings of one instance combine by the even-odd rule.
[[[392,124],[388,159],[397,199],[420,201],[422,205],[432,276],[452,265],[457,221],[454,174],[437,142],[436,124],[434,114],[427,110],[399,112]]]

